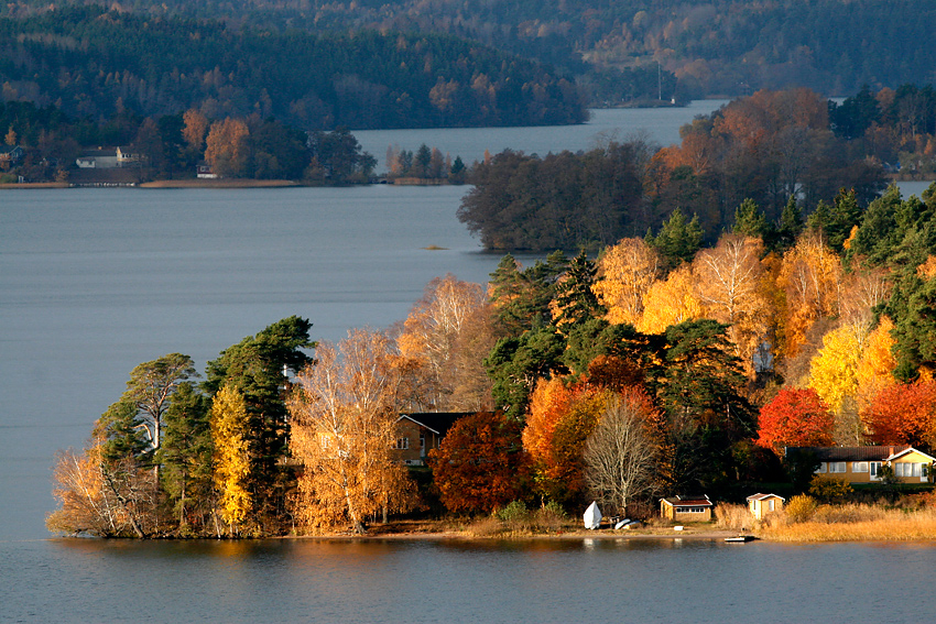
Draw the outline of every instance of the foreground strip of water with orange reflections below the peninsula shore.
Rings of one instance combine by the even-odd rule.
[[[699,539],[8,544],[4,620],[918,621],[936,547]]]

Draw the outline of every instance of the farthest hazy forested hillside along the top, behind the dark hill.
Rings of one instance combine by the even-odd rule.
[[[20,0],[0,14],[44,4]],[[863,84],[928,83],[936,67],[929,0],[128,0],[120,7],[280,32],[456,35],[549,63],[576,76],[594,102],[790,86],[836,96]]]

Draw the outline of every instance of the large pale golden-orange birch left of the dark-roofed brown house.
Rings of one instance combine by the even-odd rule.
[[[336,348],[319,346],[318,362],[294,380],[287,403],[290,449],[301,464],[295,514],[308,529],[350,524],[406,508],[410,482],[394,461],[393,353],[380,332],[351,330]]]

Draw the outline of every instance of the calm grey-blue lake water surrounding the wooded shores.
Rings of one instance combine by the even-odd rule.
[[[366,139],[381,160],[390,141],[468,161],[502,146],[586,149],[596,130],[630,132],[664,113],[655,140],[673,142],[681,123],[708,110]],[[83,446],[135,364],[181,351],[203,370],[293,314],[313,321],[313,338],[338,340],[403,319],[433,277],[485,282],[499,256],[455,218],[465,190],[0,191],[0,621],[564,622],[587,612],[665,622],[687,611],[732,621],[759,601],[802,605],[796,596],[815,603],[793,612],[799,620],[837,620],[834,607],[856,604],[862,618],[922,612],[928,546],[48,539],[54,453]]]

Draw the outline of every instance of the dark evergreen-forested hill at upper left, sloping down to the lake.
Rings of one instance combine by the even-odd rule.
[[[80,118],[194,108],[320,130],[576,123],[586,114],[572,81],[450,35],[273,32],[100,7],[10,13],[0,10],[0,99]]]

